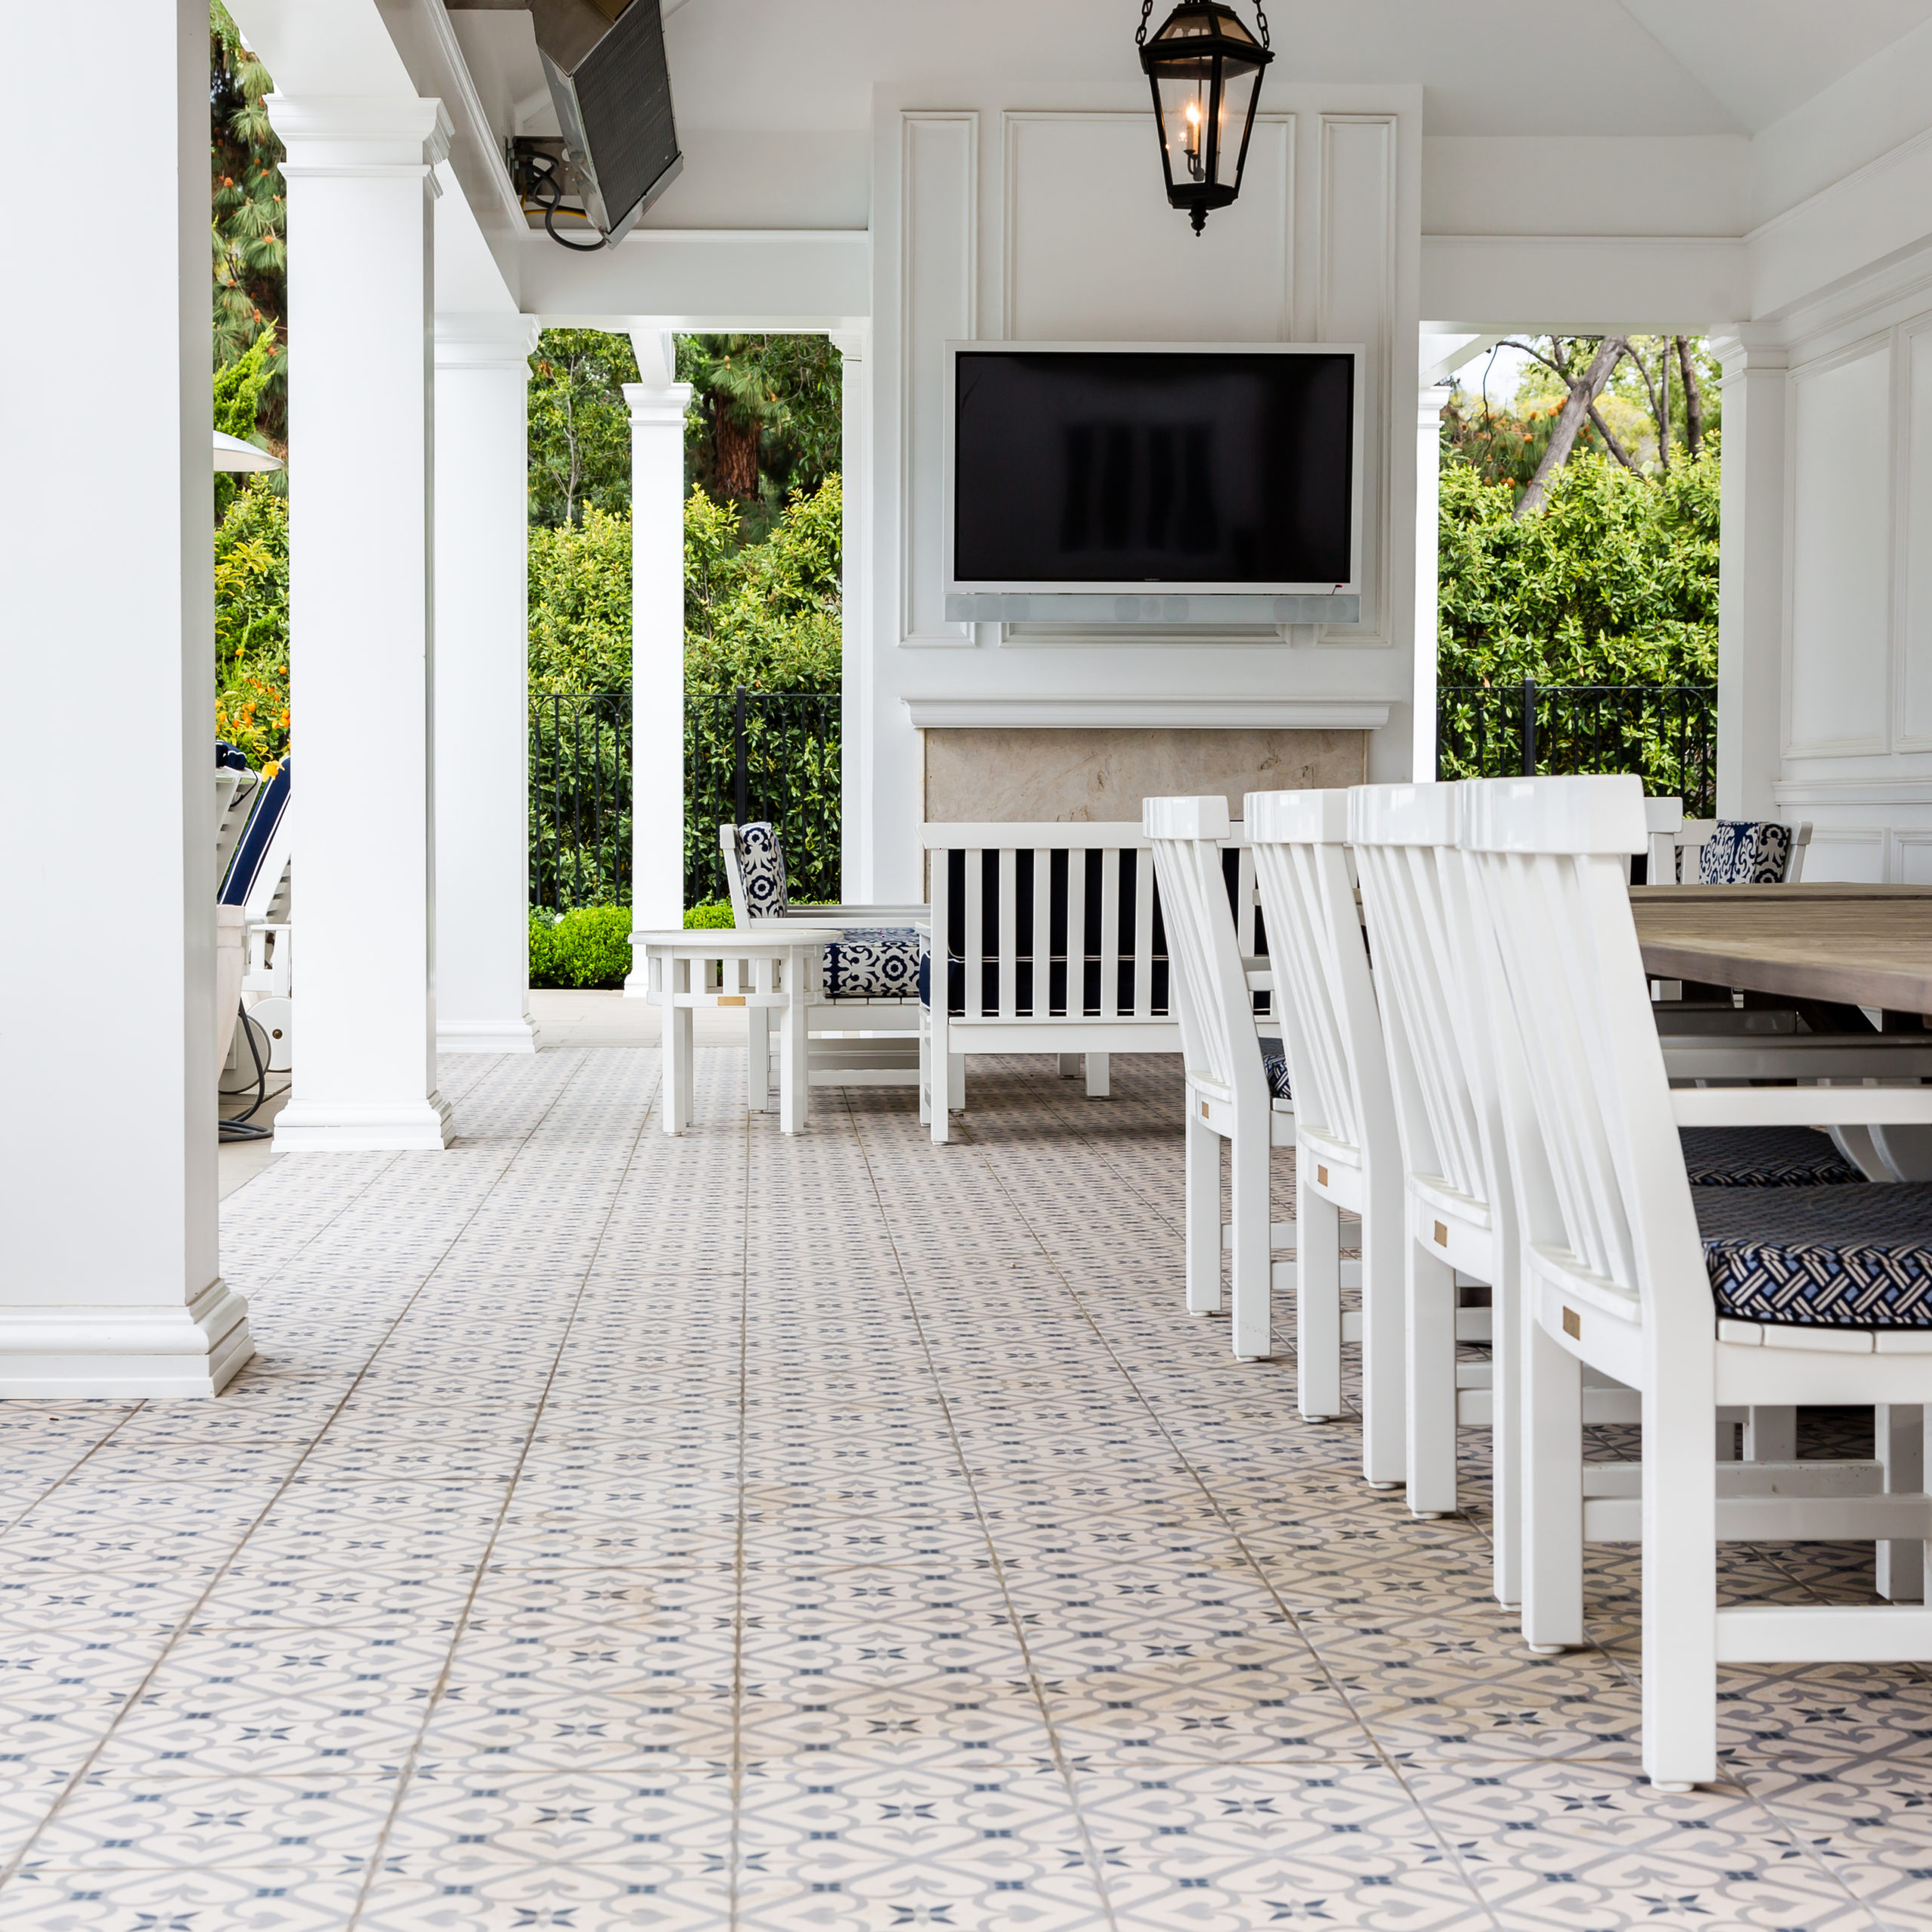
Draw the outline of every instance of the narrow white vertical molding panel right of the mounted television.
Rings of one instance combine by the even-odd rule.
[[[1364,342],[1370,371],[1362,435],[1362,622],[1323,624],[1320,643],[1393,641],[1389,402],[1395,384],[1397,172],[1393,114],[1320,118],[1318,342]],[[1414,367],[1414,344],[1406,367]],[[1406,423],[1405,423],[1406,429]]]

